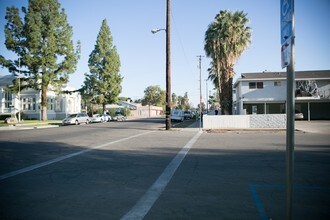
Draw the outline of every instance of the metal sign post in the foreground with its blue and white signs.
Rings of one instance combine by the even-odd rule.
[[[281,0],[282,68],[287,67],[286,103],[286,219],[292,219],[294,130],[295,130],[295,70],[294,70],[294,0]]]

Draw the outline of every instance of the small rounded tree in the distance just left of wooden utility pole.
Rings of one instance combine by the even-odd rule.
[[[160,86],[148,86],[144,90],[142,105],[155,105],[163,107],[165,104],[166,92]]]

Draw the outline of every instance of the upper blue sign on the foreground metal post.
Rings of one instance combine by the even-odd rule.
[[[292,0],[281,0],[281,44],[292,36]]]

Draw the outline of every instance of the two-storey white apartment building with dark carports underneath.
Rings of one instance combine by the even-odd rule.
[[[295,109],[305,119],[330,119],[330,70],[296,71]],[[286,72],[243,73],[233,86],[233,113],[286,111]]]

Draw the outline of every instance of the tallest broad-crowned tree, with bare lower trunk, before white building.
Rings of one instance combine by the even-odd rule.
[[[61,88],[68,82],[80,54],[74,49],[72,27],[57,0],[30,0],[22,8],[24,20],[16,7],[7,7],[5,45],[17,54],[17,60],[0,56],[1,65],[10,72],[29,76],[29,87],[41,90],[42,120],[47,120],[47,88]]]

